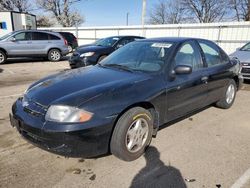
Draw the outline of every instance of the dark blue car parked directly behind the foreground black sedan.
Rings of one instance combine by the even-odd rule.
[[[93,44],[80,46],[69,59],[69,65],[71,68],[95,65],[113,51],[138,39],[144,38],[138,36],[114,36],[100,39]]]

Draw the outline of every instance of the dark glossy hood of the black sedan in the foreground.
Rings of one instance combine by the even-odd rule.
[[[129,87],[145,79],[148,79],[147,74],[88,66],[44,78],[31,85],[25,97],[44,106],[80,106],[106,92]]]

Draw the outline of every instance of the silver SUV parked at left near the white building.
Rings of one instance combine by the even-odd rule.
[[[0,38],[0,64],[9,57],[46,57],[59,61],[68,53],[67,41],[56,32],[20,30]]]

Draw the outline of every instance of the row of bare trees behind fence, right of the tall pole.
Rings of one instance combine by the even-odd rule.
[[[159,0],[149,24],[250,21],[250,0]]]

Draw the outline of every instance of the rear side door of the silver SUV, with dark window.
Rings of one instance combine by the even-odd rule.
[[[45,32],[32,32],[32,53],[37,55],[47,54],[49,36]]]

